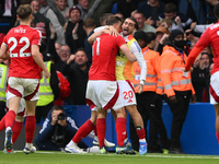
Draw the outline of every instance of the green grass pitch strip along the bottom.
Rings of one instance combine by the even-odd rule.
[[[24,154],[18,151],[14,154],[0,152],[0,164],[218,164],[216,155],[117,155],[108,154],[68,154],[65,152],[37,151],[34,154]]]

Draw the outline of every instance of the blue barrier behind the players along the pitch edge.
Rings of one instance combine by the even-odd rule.
[[[90,108],[85,105],[65,105],[64,108],[66,108],[66,113],[76,120],[79,127],[83,125],[91,116]],[[172,113],[165,103],[163,104],[162,117],[168,131],[168,136],[170,138]],[[216,115],[212,105],[209,103],[191,104],[181,136],[182,150],[187,154],[219,155],[215,120]],[[108,112],[106,124],[106,139],[116,143],[115,122],[111,112]],[[34,138],[38,134],[41,127],[42,125],[36,126]],[[127,119],[127,131],[129,136],[129,119]],[[83,141],[89,147],[92,147],[92,139],[85,138]],[[0,150],[3,150],[3,142],[4,130],[0,132]],[[14,149],[22,150],[24,148],[24,143],[25,128],[23,127],[22,132],[16,143],[14,144]]]

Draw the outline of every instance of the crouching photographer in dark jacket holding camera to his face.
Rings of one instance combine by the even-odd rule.
[[[74,120],[65,114],[61,106],[54,106],[48,113],[43,127],[35,139],[38,150],[61,151],[62,148],[73,138],[78,127]],[[94,134],[90,133],[90,138]],[[84,142],[79,142],[81,149],[87,149]]]

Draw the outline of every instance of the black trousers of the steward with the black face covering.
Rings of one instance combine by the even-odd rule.
[[[192,91],[174,91],[177,103],[171,103],[165,96],[165,101],[169,104],[171,112],[173,114],[172,127],[171,127],[171,149],[181,148],[181,132],[183,129],[183,124],[185,121],[189,99],[192,97]]]

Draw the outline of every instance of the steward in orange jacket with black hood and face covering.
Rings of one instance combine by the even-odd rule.
[[[184,33],[171,32],[170,44],[163,47],[161,55],[161,80],[164,85],[165,101],[173,114],[170,153],[184,154],[181,149],[181,131],[185,121],[189,101],[195,103],[195,91],[191,82],[191,72],[184,74],[187,57],[184,52]]]

